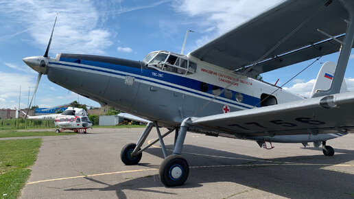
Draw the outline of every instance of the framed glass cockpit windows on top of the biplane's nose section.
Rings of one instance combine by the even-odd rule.
[[[187,56],[172,54],[168,51],[154,51],[143,59],[147,67],[158,71],[169,71],[182,75],[196,73],[197,65],[188,60]]]

